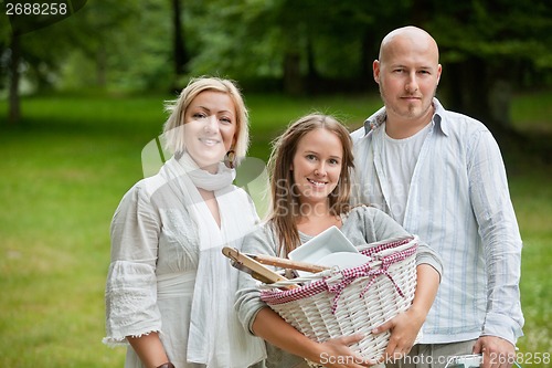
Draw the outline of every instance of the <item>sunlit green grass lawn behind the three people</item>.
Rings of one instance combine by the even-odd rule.
[[[170,97],[24,98],[24,126],[0,127],[0,366],[123,366],[124,349],[100,344],[109,222],[141,178],[141,148],[161,130]],[[251,156],[263,160],[272,139],[306,113],[336,114],[352,129],[380,106],[378,96],[246,97]],[[551,132],[545,99],[517,97],[514,125]],[[0,102],[2,123],[6,111]],[[550,353],[552,170],[517,166],[509,179],[524,240],[519,347]]]

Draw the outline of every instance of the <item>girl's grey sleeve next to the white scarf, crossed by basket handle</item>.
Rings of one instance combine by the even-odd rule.
[[[244,253],[275,256],[276,244],[274,243],[274,238],[268,225],[258,225],[255,231],[246,235],[242,251]],[[253,335],[252,325],[257,313],[268,306],[261,301],[261,291],[257,288],[257,281],[245,272],[238,272],[235,309],[244,328]]]

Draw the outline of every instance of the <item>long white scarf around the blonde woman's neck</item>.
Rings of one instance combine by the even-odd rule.
[[[202,170],[188,155],[171,158],[166,170],[182,194],[189,213],[195,218],[200,256],[193,292],[188,361],[208,368],[244,368],[265,358],[261,338],[246,332],[234,311],[237,270],[221,253],[224,245],[241,248],[242,238],[252,230],[257,218],[244,211],[236,200],[232,181],[235,170],[222,162],[216,174]],[[213,190],[219,203],[221,228],[197,188]],[[236,215],[240,213],[240,215]]]

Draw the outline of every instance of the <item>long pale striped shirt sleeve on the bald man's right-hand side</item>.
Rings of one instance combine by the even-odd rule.
[[[487,271],[487,315],[482,335],[516,344],[524,319],[520,303],[521,235],[510,199],[502,156],[490,132],[474,136],[469,157],[470,199],[482,239]]]

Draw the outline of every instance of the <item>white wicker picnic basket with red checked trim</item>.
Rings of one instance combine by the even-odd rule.
[[[373,335],[371,330],[406,311],[414,298],[417,242],[416,236],[406,236],[367,244],[359,250],[371,257],[368,263],[261,284],[261,298],[316,341],[363,334],[351,348],[364,358],[376,359],[383,355],[390,333]],[[280,288],[289,285],[296,287]]]

